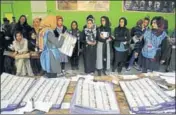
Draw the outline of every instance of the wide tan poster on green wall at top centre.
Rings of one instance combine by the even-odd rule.
[[[56,1],[56,9],[64,11],[109,11],[109,1]]]

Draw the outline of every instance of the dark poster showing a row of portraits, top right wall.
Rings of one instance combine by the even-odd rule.
[[[124,0],[123,9],[125,11],[174,13],[175,2],[174,0],[172,1]]]

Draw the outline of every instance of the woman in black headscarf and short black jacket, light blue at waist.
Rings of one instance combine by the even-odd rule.
[[[122,67],[124,66],[128,50],[130,47],[130,33],[128,28],[126,28],[127,20],[122,17],[119,20],[119,26],[114,30],[115,42],[115,62],[112,71],[115,72],[115,69],[118,67],[118,73],[121,73]]]

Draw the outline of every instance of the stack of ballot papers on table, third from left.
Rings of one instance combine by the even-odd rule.
[[[71,114],[119,114],[112,83],[80,78],[71,100]]]

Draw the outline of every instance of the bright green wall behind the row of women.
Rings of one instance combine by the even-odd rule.
[[[28,23],[32,23],[32,13],[31,13],[31,5],[30,1],[15,1],[13,4],[14,16],[19,18],[21,14],[28,15]],[[12,8],[9,4],[1,4],[1,19],[3,18],[4,12],[12,12]],[[110,18],[112,23],[112,28],[118,25],[118,20],[120,17],[124,16],[128,20],[128,28],[133,27],[136,24],[138,19],[141,19],[145,16],[149,16],[150,18],[154,16],[163,16],[169,22],[169,32],[172,31],[175,27],[175,14],[174,13],[154,13],[154,12],[127,12],[123,11],[122,1],[110,1],[110,11],[109,12],[99,12],[99,11],[58,11],[56,10],[56,1],[47,1],[47,13],[53,15],[61,15],[64,17],[64,25],[70,28],[70,23],[73,20],[78,21],[79,28],[82,29],[83,25],[85,25],[86,17],[89,14],[92,14],[96,23],[100,24],[100,17],[102,15],[106,15]]]

